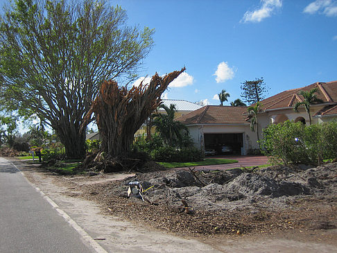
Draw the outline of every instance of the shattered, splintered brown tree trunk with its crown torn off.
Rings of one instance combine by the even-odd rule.
[[[149,84],[141,82],[130,90],[112,80],[103,82],[85,121],[95,114],[105,160],[120,159],[130,153],[135,132],[160,105],[160,96],[170,82],[184,70],[173,71],[163,78],[156,73]]]

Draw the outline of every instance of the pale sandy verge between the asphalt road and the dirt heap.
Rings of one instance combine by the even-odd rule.
[[[261,231],[257,227],[247,234],[234,231],[232,234],[209,235],[189,231],[184,234],[183,229],[175,232],[166,230],[165,226],[155,226],[161,228],[156,229],[146,223],[144,217],[137,220],[132,213],[128,218],[123,212],[113,212],[113,207],[100,202],[102,196],[95,192],[132,174],[64,177],[41,172],[31,164],[12,162],[107,252],[337,252],[337,229],[288,225],[286,229]],[[87,200],[88,194],[92,195],[92,200]],[[130,207],[133,213],[137,208],[155,209],[153,205],[143,207],[137,203],[124,203],[123,208]]]

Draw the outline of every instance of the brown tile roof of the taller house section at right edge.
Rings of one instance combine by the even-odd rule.
[[[273,110],[284,107],[293,107],[297,102],[303,101],[303,97],[298,95],[301,90],[309,91],[313,88],[318,88],[316,93],[324,103],[337,103],[337,81],[332,82],[315,82],[312,85],[301,87],[297,89],[289,89],[283,91],[275,96],[261,101],[262,110]]]

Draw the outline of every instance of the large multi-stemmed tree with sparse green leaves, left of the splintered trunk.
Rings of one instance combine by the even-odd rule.
[[[3,104],[50,125],[68,157],[85,156],[80,125],[100,84],[135,80],[153,46],[153,30],[125,21],[100,0],[15,1],[0,20]]]

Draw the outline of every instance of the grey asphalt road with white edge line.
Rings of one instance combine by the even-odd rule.
[[[83,236],[0,157],[0,252],[96,252]]]

